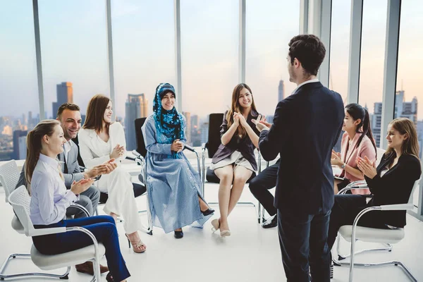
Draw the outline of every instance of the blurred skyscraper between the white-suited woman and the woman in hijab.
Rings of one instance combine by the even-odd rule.
[[[148,114],[148,99],[145,94],[128,94],[128,100],[125,103],[125,137],[126,149],[137,149],[135,139],[135,119],[145,118]]]

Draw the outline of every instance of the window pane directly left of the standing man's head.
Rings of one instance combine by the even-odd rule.
[[[245,82],[257,111],[273,116],[276,104],[297,87],[289,81],[288,43],[298,35],[300,1],[246,1]]]

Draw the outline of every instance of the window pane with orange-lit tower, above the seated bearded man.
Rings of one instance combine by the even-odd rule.
[[[73,102],[85,115],[94,94],[109,96],[106,5],[95,0],[39,0],[47,118]],[[82,118],[83,119],[83,118]]]

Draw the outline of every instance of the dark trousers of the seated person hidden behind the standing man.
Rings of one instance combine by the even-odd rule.
[[[276,179],[278,178],[278,169],[281,159],[276,161],[276,164],[269,166],[264,169],[258,176],[252,178],[250,181],[250,191],[260,204],[263,205],[264,209],[269,213],[270,216],[276,214],[276,208],[274,207],[274,196],[271,195],[269,189],[276,186]]]

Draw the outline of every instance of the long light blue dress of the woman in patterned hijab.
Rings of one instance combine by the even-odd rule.
[[[185,130],[186,123],[183,124]],[[147,192],[153,225],[163,228],[165,233],[188,225],[202,228],[212,215],[203,216],[200,211],[199,173],[183,152],[173,159],[171,144],[157,140],[153,115],[142,125],[142,134],[147,149]]]

